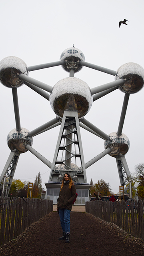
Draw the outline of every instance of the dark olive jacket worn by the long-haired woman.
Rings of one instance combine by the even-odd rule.
[[[58,198],[58,208],[65,208],[68,210],[72,210],[72,202],[76,198],[76,188],[74,184],[72,184],[71,189],[69,189],[69,183],[64,183],[64,186],[60,190],[59,198]]]

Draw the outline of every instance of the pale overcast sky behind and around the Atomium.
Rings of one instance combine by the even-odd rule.
[[[16,56],[28,66],[58,61],[66,48],[82,50],[86,62],[117,70],[122,64],[135,62],[144,68],[144,1],[143,0],[0,0],[0,60]],[[128,20],[128,25],[120,20]],[[29,76],[54,86],[68,77],[61,66],[32,71]],[[90,88],[114,81],[114,76],[90,68],[75,74]],[[21,126],[29,131],[56,117],[50,102],[26,85],[18,88]],[[12,89],[0,84],[0,173],[10,154],[6,144],[8,133],[16,127]],[[115,90],[93,102],[85,118],[106,134],[116,132],[124,93]],[[144,88],[131,94],[122,132],[130,140],[126,161],[130,172],[144,162]],[[50,162],[56,147],[60,126],[34,137],[33,148]],[[104,140],[80,128],[85,162],[104,151]],[[50,168],[32,153],[20,154],[14,178],[34,182],[40,171],[42,186],[48,182]],[[114,193],[120,180],[115,158],[107,155],[86,169],[87,180],[109,182]]]

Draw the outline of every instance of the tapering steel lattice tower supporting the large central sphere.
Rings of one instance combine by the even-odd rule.
[[[77,166],[78,159],[81,169]],[[64,111],[49,182],[62,181],[65,172],[69,172],[75,182],[87,183],[78,113],[71,111]]]

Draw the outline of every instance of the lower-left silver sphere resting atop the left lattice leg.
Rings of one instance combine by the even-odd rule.
[[[26,144],[32,146],[33,138],[28,135],[28,130],[22,128],[20,131],[13,129],[7,136],[7,144],[11,150],[16,149],[18,153],[24,153],[28,151],[25,146]]]

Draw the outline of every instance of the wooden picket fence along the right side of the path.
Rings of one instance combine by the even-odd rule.
[[[142,200],[137,202],[86,202],[86,212],[112,222],[135,236],[144,239],[144,205]]]

